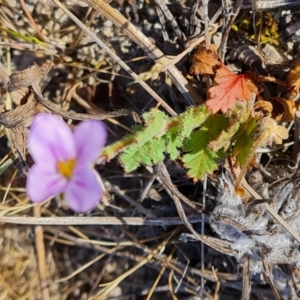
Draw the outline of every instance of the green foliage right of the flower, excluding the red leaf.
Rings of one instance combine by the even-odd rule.
[[[168,156],[181,160],[194,181],[212,173],[218,161],[228,156],[243,165],[253,149],[259,123],[244,105],[237,105],[226,115],[213,115],[202,105],[190,107],[177,117],[168,117],[157,109],[142,117],[144,127],[137,126],[133,134],[105,147],[102,159],[109,161],[120,155],[125,171],[131,172],[140,165],[156,164]]]

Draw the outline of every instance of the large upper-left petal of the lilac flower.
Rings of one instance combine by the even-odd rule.
[[[39,164],[56,164],[76,156],[74,137],[69,126],[59,117],[37,114],[28,136],[28,149]]]

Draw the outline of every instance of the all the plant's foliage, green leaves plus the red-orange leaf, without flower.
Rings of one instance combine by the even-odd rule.
[[[143,126],[137,126],[132,135],[103,150],[104,161],[120,154],[124,169],[131,172],[168,156],[171,160],[181,160],[188,170],[187,176],[197,181],[216,170],[220,161],[230,158],[234,167],[242,170],[236,184],[238,189],[257,148],[280,143],[288,137],[285,127],[254,111],[256,96],[262,90],[250,75],[233,73],[216,53],[205,47],[201,49],[196,60],[202,70],[198,74],[207,75],[209,69],[208,74],[214,75],[206,103],[189,107],[175,117],[157,109],[144,113]],[[211,55],[214,56],[208,68]],[[268,135],[274,138],[268,141]]]

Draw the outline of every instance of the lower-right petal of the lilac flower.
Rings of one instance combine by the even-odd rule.
[[[65,199],[72,210],[82,213],[97,206],[103,194],[98,176],[88,167],[75,169],[65,190]]]

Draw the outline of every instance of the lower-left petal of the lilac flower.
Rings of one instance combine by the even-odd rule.
[[[42,202],[51,196],[61,194],[67,182],[66,178],[56,172],[55,166],[35,164],[27,176],[27,195],[33,202]]]

